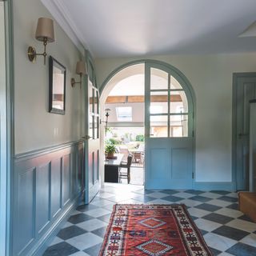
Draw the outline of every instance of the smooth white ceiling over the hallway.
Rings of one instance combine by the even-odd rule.
[[[98,58],[256,51],[256,0],[41,1]]]

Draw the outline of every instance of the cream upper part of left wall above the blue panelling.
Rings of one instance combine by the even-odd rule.
[[[42,42],[34,38],[38,18],[52,18],[40,0],[14,0],[14,133],[15,154],[71,142],[82,137],[80,86],[72,88],[76,62],[82,55],[57,22],[54,22],[56,42],[47,46],[46,66],[38,56],[35,63],[28,60],[26,50],[34,46],[42,53]],[[66,66],[66,114],[48,112],[48,58]]]

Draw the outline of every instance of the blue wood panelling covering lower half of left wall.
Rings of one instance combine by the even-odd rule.
[[[83,184],[84,142],[14,159],[13,255],[41,254],[46,238],[76,206]]]

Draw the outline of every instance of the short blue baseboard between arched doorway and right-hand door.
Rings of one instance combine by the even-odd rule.
[[[235,191],[234,182],[194,182],[194,190],[227,190]]]

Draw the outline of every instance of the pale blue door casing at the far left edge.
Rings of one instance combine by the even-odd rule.
[[[10,255],[12,210],[11,194],[13,190],[14,157],[14,42],[13,42],[13,4],[10,0],[4,4],[6,82],[0,85],[1,95],[1,166],[0,166],[0,254]]]

